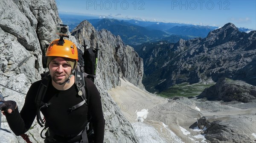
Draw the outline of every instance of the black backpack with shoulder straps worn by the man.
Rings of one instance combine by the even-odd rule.
[[[46,48],[49,45],[46,45],[45,48],[43,49],[43,54],[42,54],[42,62],[43,62],[43,67],[47,68],[47,57],[45,56],[45,51]],[[78,94],[81,96],[81,98],[83,99],[83,101],[81,101],[79,104],[74,105],[73,107],[70,108],[70,112],[72,112],[73,110],[77,109],[78,107],[82,106],[83,104],[87,104],[88,106],[88,98],[89,96],[87,96],[87,89],[86,87],[86,83],[84,78],[87,77],[89,78],[91,81],[93,81],[93,83],[95,82],[95,78],[96,78],[96,67],[97,67],[97,62],[98,62],[98,44],[96,48],[87,48],[87,45],[85,45],[85,40],[84,40],[84,53],[81,51],[81,49],[77,48],[78,50],[78,65],[75,69],[74,72],[74,76],[75,76],[75,85],[76,88],[78,90]],[[37,121],[38,124],[43,127],[44,129],[41,131],[41,137],[42,138],[46,138],[43,137],[42,133],[45,129],[47,129],[47,124],[44,123],[44,120],[41,117],[41,113],[40,110],[44,107],[48,107],[50,105],[46,104],[43,102],[44,99],[44,95],[46,94],[47,91],[47,87],[49,85],[49,82],[51,81],[51,77],[49,75],[49,72],[47,73],[42,73],[41,74],[41,84],[38,88],[38,92],[35,98],[35,104],[37,107]],[[87,114],[87,126],[86,126],[86,134],[87,134],[87,138],[88,140],[93,140],[93,128],[92,128],[92,123],[90,122],[91,117],[90,114]]]

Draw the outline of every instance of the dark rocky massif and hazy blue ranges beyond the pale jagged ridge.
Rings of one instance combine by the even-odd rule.
[[[106,18],[88,21],[96,30],[107,29],[134,47],[143,58],[143,84],[150,92],[161,92],[183,82],[213,82],[220,77],[256,85],[255,36],[252,31],[246,33],[250,29],[232,23],[218,28]]]

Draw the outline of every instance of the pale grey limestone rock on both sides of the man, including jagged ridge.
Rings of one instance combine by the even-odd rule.
[[[33,82],[41,79],[40,73],[44,72],[41,51],[46,44],[58,38],[55,25],[61,23],[61,20],[53,0],[1,0],[0,3],[0,92],[8,96],[5,100],[15,100],[21,109],[26,96],[24,93]],[[102,96],[106,119],[105,142],[138,142],[131,124],[124,118],[107,90],[120,84],[119,77],[144,89],[141,83],[143,60],[133,48],[125,46],[120,37],[105,30],[98,32],[86,21],[76,28],[73,35],[77,39],[74,36],[70,39],[79,48],[83,39],[90,47],[96,48],[98,44],[101,48],[96,86]],[[4,116],[2,121],[2,128],[11,131]],[[44,141],[40,132],[35,121],[27,134],[32,142],[41,143]]]

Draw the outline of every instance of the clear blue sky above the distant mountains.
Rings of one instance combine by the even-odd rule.
[[[256,0],[55,0],[59,12],[256,30]]]

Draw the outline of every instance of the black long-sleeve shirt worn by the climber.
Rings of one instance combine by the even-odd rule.
[[[105,120],[102,112],[102,104],[99,91],[90,79],[85,78],[88,98],[88,105],[70,112],[69,108],[80,103],[81,96],[78,95],[75,84],[68,90],[57,90],[50,82],[44,103],[51,103],[49,107],[41,109],[46,123],[56,135],[76,136],[87,124],[87,112],[90,112],[95,133],[95,143],[103,143]],[[41,81],[31,85],[26,95],[25,103],[20,113],[18,109],[12,114],[6,114],[6,119],[15,135],[21,135],[29,130],[35,120],[37,107],[35,96]]]

